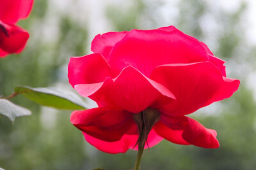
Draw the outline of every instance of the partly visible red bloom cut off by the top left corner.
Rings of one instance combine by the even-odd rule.
[[[32,4],[33,0],[0,0],[0,57],[23,50],[29,34],[15,24],[29,15]]]

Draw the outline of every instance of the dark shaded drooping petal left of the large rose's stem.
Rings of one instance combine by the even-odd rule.
[[[86,134],[109,142],[120,140],[134,124],[132,115],[128,111],[109,108],[74,111],[70,122]]]

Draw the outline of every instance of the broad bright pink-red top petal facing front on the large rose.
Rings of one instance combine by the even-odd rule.
[[[115,74],[133,66],[145,76],[162,64],[207,60],[202,45],[178,30],[132,30],[116,43],[109,55],[109,65]]]

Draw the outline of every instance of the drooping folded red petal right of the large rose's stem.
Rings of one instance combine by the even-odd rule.
[[[218,148],[217,133],[206,129],[202,124],[189,117],[168,117],[161,115],[156,124],[156,132],[163,138],[180,145],[195,145],[203,148]]]

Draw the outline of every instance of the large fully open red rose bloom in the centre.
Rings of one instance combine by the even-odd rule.
[[[88,143],[108,153],[138,149],[136,117],[159,111],[145,148],[163,138],[180,145],[218,148],[216,131],[186,117],[238,89],[225,63],[207,45],[173,26],[108,32],[92,41],[92,54],[71,57],[68,78],[74,89],[99,108],[74,111],[70,121]],[[141,120],[139,120],[141,121]]]

